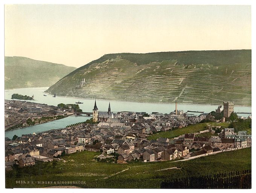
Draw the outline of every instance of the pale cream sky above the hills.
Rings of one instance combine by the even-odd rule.
[[[5,56],[80,67],[108,53],[251,49],[251,6],[5,5]]]

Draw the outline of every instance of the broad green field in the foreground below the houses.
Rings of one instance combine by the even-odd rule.
[[[66,162],[40,163],[14,169],[6,173],[6,188],[58,185],[38,184],[38,181],[84,181],[85,184],[76,185],[83,188],[160,188],[161,182],[166,179],[251,169],[251,148],[180,162],[102,163],[93,160],[95,155],[99,153],[82,151],[64,157]],[[169,169],[171,167],[180,169]],[[122,170],[125,171],[121,172]],[[19,184],[18,181],[24,181],[26,184]],[[27,181],[30,181],[30,184],[27,184]],[[31,184],[31,181],[34,181],[34,184]]]

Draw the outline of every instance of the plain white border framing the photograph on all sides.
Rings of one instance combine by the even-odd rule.
[[[251,22],[251,27],[252,27],[252,73],[254,75],[255,73],[255,67],[254,67],[254,61],[255,61],[255,56],[254,56],[254,45],[255,45],[255,37],[253,36],[256,31],[255,31],[255,3],[253,0],[180,0],[180,1],[168,1],[168,0],[124,0],[124,1],[118,1],[118,0],[87,0],[86,3],[82,0],[72,0],[72,1],[67,1],[67,0],[61,0],[61,1],[58,1],[58,0],[37,0],[37,1],[32,1],[32,0],[3,0],[1,1],[1,8],[0,8],[0,17],[1,17],[1,24],[2,24],[2,27],[0,29],[0,33],[1,33],[1,42],[0,42],[0,46],[1,46],[1,103],[0,103],[0,109],[1,109],[1,113],[0,113],[0,118],[3,118],[3,115],[4,115],[4,112],[3,112],[3,109],[4,109],[4,105],[3,105],[3,100],[4,100],[4,70],[3,70],[3,66],[4,66],[4,4],[93,4],[93,5],[96,5],[96,4],[101,4],[101,5],[119,5],[119,4],[122,4],[122,5],[251,5],[251,18],[252,18],[252,22]],[[253,83],[256,83],[255,81],[255,78],[254,76],[252,75],[252,112],[254,112],[254,103],[253,103],[253,96],[254,95],[254,85]],[[254,113],[253,113],[254,115]],[[1,124],[2,124],[2,135],[1,135],[1,142],[3,144],[3,141],[4,141],[4,129],[3,129],[3,120],[1,120]],[[253,121],[253,126],[254,126],[254,121]],[[252,155],[254,155],[254,148],[252,148]],[[1,178],[0,178],[0,182],[1,182],[1,189],[3,188],[4,192],[5,191],[8,191],[8,192],[15,192],[17,193],[17,191],[21,191],[21,192],[30,192],[30,191],[38,191],[38,192],[44,192],[44,191],[62,191],[64,193],[66,192],[75,192],[75,191],[78,191],[78,192],[84,192],[84,191],[95,191],[95,192],[98,192],[98,191],[102,191],[102,192],[113,192],[113,191],[117,191],[116,189],[90,189],[90,190],[85,190],[85,189],[43,189],[43,188],[40,188],[40,189],[37,189],[35,190],[34,188],[30,189],[30,188],[15,188],[15,189],[5,189],[5,170],[4,170],[4,147],[1,149],[1,158],[0,158],[0,171],[1,171]],[[252,163],[254,162],[254,157],[255,156],[252,156]],[[230,160],[230,164],[232,164],[232,161]],[[254,165],[252,165],[252,170],[254,171]],[[164,192],[170,192],[170,191],[190,191],[190,192],[203,192],[203,191],[221,191],[221,192],[226,192],[226,191],[232,191],[232,192],[248,192],[248,191],[253,191],[253,189],[255,189],[254,187],[254,172],[252,173],[252,176],[253,176],[253,181],[252,181],[252,189],[251,190],[155,190],[155,189],[151,189],[151,190],[141,190],[141,189],[132,189],[132,190],[129,190],[129,189],[122,189],[122,190],[119,190],[119,191],[122,191],[122,192],[131,192],[131,191],[134,191],[134,192],[138,192],[138,191],[147,191],[149,193],[151,192],[155,192],[155,191],[164,191]]]

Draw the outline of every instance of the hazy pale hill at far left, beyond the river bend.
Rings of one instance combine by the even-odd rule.
[[[52,86],[75,69],[27,57],[5,56],[5,89]]]

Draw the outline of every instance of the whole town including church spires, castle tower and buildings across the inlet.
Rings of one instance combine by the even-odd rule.
[[[38,104],[38,108],[24,109],[17,105],[18,103],[23,106],[34,104],[26,101],[6,101],[6,112],[12,110],[17,115],[23,115],[21,111],[26,110],[34,116],[41,116],[47,109],[46,114],[52,113],[52,115],[72,113],[71,110],[69,112],[46,104]],[[110,103],[108,111],[99,111],[95,100],[93,118],[90,120],[67,125],[66,128],[23,134],[21,137],[14,136],[12,139],[6,137],[5,168],[11,170],[14,165],[24,167],[34,165],[37,161],[61,160],[67,154],[81,151],[102,152],[95,158],[97,161],[108,160],[126,164],[130,161],[186,161],[223,151],[251,147],[250,133],[235,132],[234,128],[223,128],[218,125],[233,116],[233,107],[233,102],[223,102],[223,106],[215,110],[216,115],[222,113],[223,117],[217,119],[212,113],[188,116],[183,110],[177,109],[177,103],[175,110],[169,114],[113,113]],[[240,119],[251,119],[251,116]],[[170,138],[157,137],[161,132],[179,131],[192,125],[200,125],[202,122],[206,123],[206,127],[198,132],[185,132]],[[152,136],[156,136],[156,139],[149,139]]]

